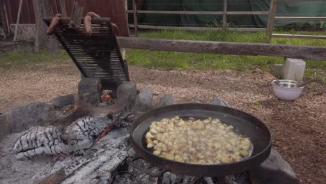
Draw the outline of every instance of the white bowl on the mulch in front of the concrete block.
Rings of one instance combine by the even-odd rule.
[[[302,93],[304,86],[297,87],[300,82],[293,80],[273,80],[274,95],[280,100],[296,100]]]

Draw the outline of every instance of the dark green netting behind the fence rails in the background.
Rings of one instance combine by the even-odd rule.
[[[129,1],[131,4],[132,1]],[[130,7],[130,9],[132,9]],[[270,0],[228,0],[228,11],[268,11]],[[222,11],[223,0],[144,0],[141,10]],[[325,17],[326,1],[277,3],[277,16]],[[227,22],[238,27],[265,27],[267,15],[228,15]],[[133,21],[132,18],[129,19]],[[277,21],[285,26],[295,21]],[[300,22],[299,25],[311,22]],[[316,23],[316,22],[315,22]],[[323,22],[320,22],[323,24]],[[139,24],[161,26],[220,26],[222,15],[153,15],[140,14]],[[232,25],[231,25],[232,26]]]

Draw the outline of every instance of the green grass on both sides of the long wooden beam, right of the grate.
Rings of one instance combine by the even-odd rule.
[[[279,31],[279,33],[282,33]],[[294,32],[291,32],[294,33]],[[300,34],[325,34],[296,32]],[[265,32],[236,31],[153,31],[141,33],[144,38],[167,38],[184,40],[212,40],[224,42],[264,43]],[[326,40],[296,38],[273,38],[272,43],[288,45],[325,46]],[[283,57],[274,56],[233,56],[220,54],[194,54],[185,52],[159,52],[141,49],[128,49],[127,61],[133,65],[146,67],[169,67],[184,70],[192,69],[231,69],[251,72],[256,68],[271,71],[274,63],[283,63]],[[306,60],[306,77],[326,77],[326,61]]]

